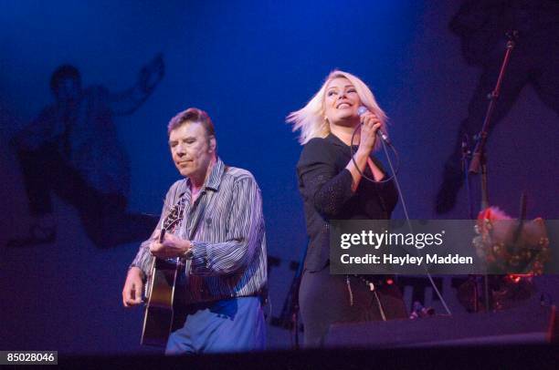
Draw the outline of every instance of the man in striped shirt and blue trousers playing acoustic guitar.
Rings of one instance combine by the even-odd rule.
[[[174,272],[163,273],[162,281],[174,301],[174,324],[159,325],[163,332],[171,327],[167,355],[264,349],[267,257],[258,184],[248,170],[228,167],[217,156],[214,125],[205,111],[179,113],[168,133],[174,164],[185,179],[167,192],[161,220],[130,266],[122,303],[142,303],[146,278],[158,273],[158,265],[171,266]],[[148,293],[157,312],[159,293]],[[148,313],[146,344],[146,330],[157,323],[148,324]]]

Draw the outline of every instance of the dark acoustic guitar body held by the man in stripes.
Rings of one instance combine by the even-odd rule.
[[[144,345],[165,346],[174,322],[174,294],[178,269],[174,260],[153,258],[152,274],[146,284],[148,299],[143,318]]]

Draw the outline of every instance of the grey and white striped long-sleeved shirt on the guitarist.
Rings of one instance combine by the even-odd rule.
[[[191,197],[190,180],[171,186],[158,226],[142,242],[131,266],[141,268],[146,276],[150,273],[149,246],[170,212],[179,209],[183,220],[168,232],[193,244],[192,258],[185,263],[187,303],[265,294],[266,232],[260,190],[252,174],[217,159],[194,204]]]

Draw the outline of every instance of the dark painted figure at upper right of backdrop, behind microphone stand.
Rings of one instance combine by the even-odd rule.
[[[559,114],[559,2],[466,0],[449,26],[460,36],[462,53],[468,64],[482,67],[483,71],[469,101],[468,117],[461,122],[454,149],[445,163],[437,194],[438,213],[454,208],[463,185],[461,143],[467,136],[471,145],[480,131],[489,105],[488,94],[499,76],[508,31],[518,31],[518,40],[502,82],[489,133],[511,110],[526,85],[532,86],[543,103]]]

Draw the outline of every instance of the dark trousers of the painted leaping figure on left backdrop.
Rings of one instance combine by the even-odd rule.
[[[103,193],[92,188],[54,146],[37,150],[18,149],[29,209],[35,216],[52,212],[51,191],[76,207],[79,218],[99,248],[147,239],[157,219],[126,212],[123,194]]]

